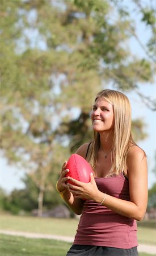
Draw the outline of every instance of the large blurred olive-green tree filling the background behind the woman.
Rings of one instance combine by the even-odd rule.
[[[54,187],[61,164],[92,138],[90,110],[99,90],[133,90],[156,109],[139,90],[154,82],[152,2],[133,1],[152,32],[143,46],[125,1],[1,0],[1,149],[35,185],[39,216],[48,193],[52,205],[60,201]],[[132,37],[147,57],[130,51]],[[133,135],[146,137],[142,120],[133,121]]]

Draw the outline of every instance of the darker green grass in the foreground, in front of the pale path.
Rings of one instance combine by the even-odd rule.
[[[71,243],[62,241],[0,235],[1,256],[65,256],[70,246]]]

